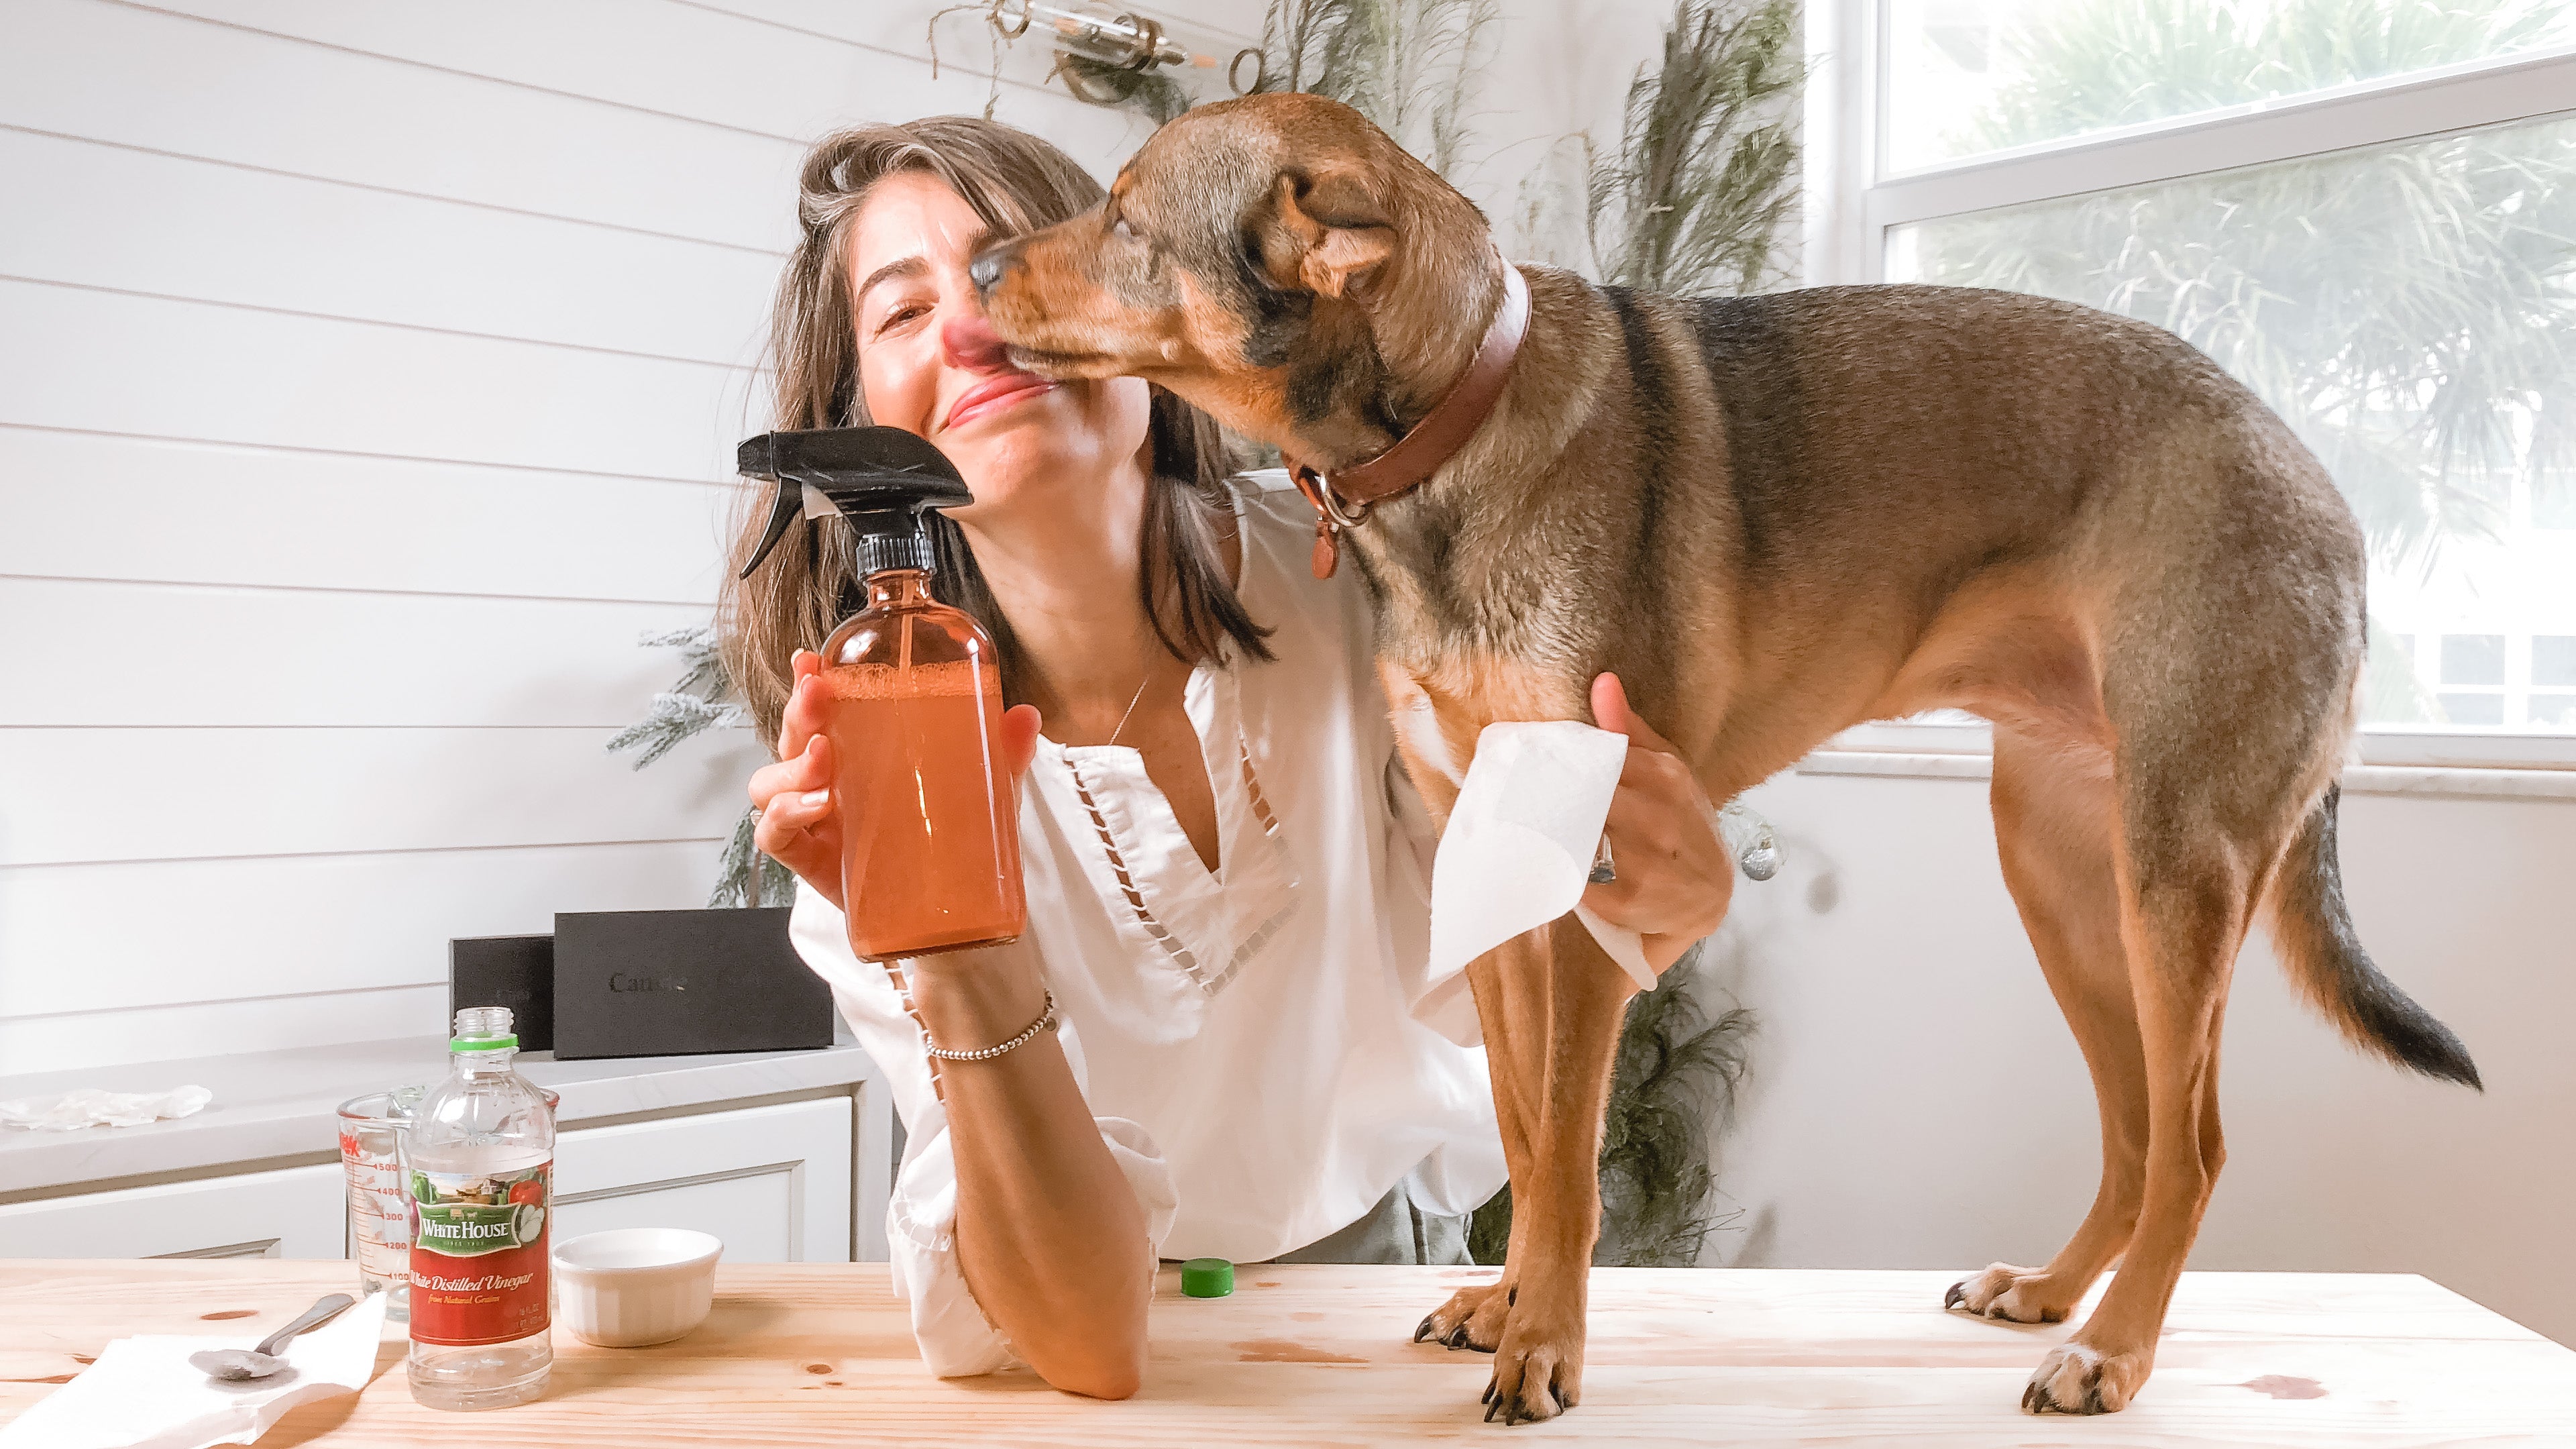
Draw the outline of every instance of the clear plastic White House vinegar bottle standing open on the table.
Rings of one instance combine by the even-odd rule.
[[[546,1232],[554,1111],[510,1067],[510,1008],[456,1013],[448,1080],[412,1111],[412,1397],[474,1410],[528,1403],[554,1369]]]

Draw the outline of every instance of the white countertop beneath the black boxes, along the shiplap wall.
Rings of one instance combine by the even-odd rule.
[[[147,1127],[80,1132],[0,1127],[0,1196],[234,1163],[283,1165],[278,1158],[330,1160],[337,1155],[332,1114],[343,1101],[433,1083],[446,1075],[446,1036],[402,1036],[0,1078],[0,1101],[75,1088],[170,1091],[191,1083],[214,1093],[214,1101],[193,1116]],[[564,1127],[878,1078],[868,1055],[848,1042],[814,1052],[598,1062],[556,1062],[549,1052],[526,1052],[518,1067],[528,1080],[562,1096],[556,1122]]]

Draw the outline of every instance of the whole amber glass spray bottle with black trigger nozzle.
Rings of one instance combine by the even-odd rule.
[[[799,513],[850,521],[866,606],[822,647],[840,890],[860,959],[927,957],[1020,936],[1020,822],[1002,761],[1002,665],[966,614],[930,596],[925,508],[966,480],[902,428],[762,433],[747,477],[778,480],[760,567]]]

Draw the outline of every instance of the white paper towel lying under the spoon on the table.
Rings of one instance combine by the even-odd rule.
[[[36,1400],[8,1428],[0,1449],[206,1449],[250,1444],[286,1410],[317,1397],[350,1395],[376,1374],[386,1294],[366,1294],[340,1318],[289,1338],[278,1354],[294,1369],[268,1379],[216,1385],[188,1364],[201,1348],[255,1348],[265,1333],[118,1338],[77,1379]],[[270,1325],[276,1328],[276,1325]]]

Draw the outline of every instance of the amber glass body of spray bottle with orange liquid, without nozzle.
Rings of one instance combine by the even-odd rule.
[[[1020,936],[1020,820],[992,639],[933,601],[927,575],[889,570],[822,657],[850,949],[927,957]]]

